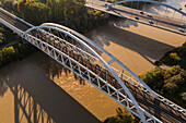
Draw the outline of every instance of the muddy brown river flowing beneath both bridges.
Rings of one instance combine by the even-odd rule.
[[[184,36],[123,19],[112,20],[85,36],[136,74],[153,69],[155,60],[186,40]],[[98,123],[115,115],[117,107],[40,51],[0,70],[0,123]]]

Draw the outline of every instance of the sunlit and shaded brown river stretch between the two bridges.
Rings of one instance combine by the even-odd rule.
[[[109,24],[85,35],[114,54],[137,75],[154,69],[155,60],[182,46],[185,40],[185,36],[121,19],[113,20]],[[105,54],[101,56],[106,59]]]

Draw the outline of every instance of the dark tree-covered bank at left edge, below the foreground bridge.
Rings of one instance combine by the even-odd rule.
[[[36,48],[25,44],[21,37],[7,27],[0,27],[0,69],[9,63],[22,60]]]

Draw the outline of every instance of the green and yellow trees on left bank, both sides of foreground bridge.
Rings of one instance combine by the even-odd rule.
[[[89,32],[107,22],[101,11],[88,9],[84,3],[84,0],[20,0],[19,2],[2,0],[0,7],[33,25],[53,22],[80,33]],[[12,34],[8,28],[1,28],[0,32],[0,66],[23,59],[36,50],[33,46],[20,41],[21,37]],[[7,44],[15,40],[18,44],[5,47]]]

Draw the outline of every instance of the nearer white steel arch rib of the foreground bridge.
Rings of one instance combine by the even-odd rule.
[[[35,37],[31,36],[28,33],[34,30],[34,29],[40,29],[40,28],[48,28],[48,29],[55,29],[55,30],[58,30],[60,33],[63,33],[68,36],[70,36],[71,38],[73,38],[75,41],[80,42],[82,46],[84,46],[84,48],[86,48],[89,51],[91,51],[98,60],[100,62],[113,74],[113,76],[117,79],[117,82],[119,83],[119,85],[123,87],[123,90],[128,95],[129,99],[127,99],[129,102],[131,102],[133,104],[133,107],[126,107],[130,112],[132,112],[135,115],[137,116],[140,116],[141,121],[142,122],[147,122],[147,121],[153,121],[153,122],[161,122],[159,121],[156,118],[154,118],[153,115],[151,115],[149,112],[144,111],[142,108],[140,108],[138,106],[138,102],[136,101],[136,99],[133,98],[133,96],[131,95],[131,93],[129,91],[129,89],[127,88],[127,86],[124,84],[124,82],[120,79],[120,77],[114,72],[113,67],[107,63],[105,62],[90,46],[88,46],[82,39],[80,39],[79,37],[74,36],[72,33],[72,30],[65,30],[65,29],[61,29],[61,28],[57,28],[57,27],[54,27],[54,26],[44,26],[46,24],[43,24],[40,26],[34,26],[30,29],[27,29],[25,33],[23,33],[22,37],[25,38],[26,40],[28,40],[27,37],[30,38],[34,38],[36,39]],[[67,29],[67,28],[66,28]],[[74,32],[73,32],[74,33]],[[80,36],[80,35],[79,35]],[[81,37],[81,36],[80,36]],[[88,39],[88,38],[86,38]],[[36,39],[37,40],[37,39]],[[89,39],[90,41],[90,39]],[[46,44],[45,44],[46,45]],[[104,51],[104,50],[103,50]],[[106,52],[108,53],[108,52]],[[109,56],[112,56],[109,53]],[[115,61],[118,61],[116,58],[113,57],[113,59]],[[81,75],[80,75],[81,76]],[[85,79],[88,81],[88,79]],[[89,82],[89,81],[88,81]],[[108,83],[107,83],[108,84]],[[117,93],[119,93],[119,90],[117,90]],[[106,94],[108,95],[108,94]],[[111,96],[109,96],[111,97]],[[114,99],[114,98],[113,98]],[[115,101],[117,101],[116,99],[114,99]],[[121,104],[121,101],[117,101],[118,103]],[[123,104],[124,106],[124,104]],[[132,108],[136,108],[137,109],[137,112],[139,113],[139,115],[137,113],[135,113],[131,109]],[[149,115],[150,119],[146,120],[146,115]]]

